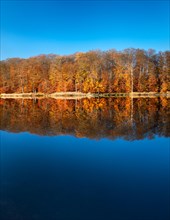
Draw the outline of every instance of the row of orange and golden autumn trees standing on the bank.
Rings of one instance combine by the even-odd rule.
[[[89,51],[0,62],[0,93],[166,93],[169,82],[169,51]]]

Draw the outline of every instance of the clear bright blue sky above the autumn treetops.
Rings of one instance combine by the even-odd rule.
[[[1,0],[1,59],[129,47],[169,50],[166,0]]]

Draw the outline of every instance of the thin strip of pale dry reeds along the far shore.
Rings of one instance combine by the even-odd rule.
[[[56,92],[51,94],[45,93],[2,93],[1,99],[81,99],[81,98],[109,98],[109,97],[133,97],[133,98],[155,98],[170,97],[170,92],[133,92],[133,93],[82,93],[82,92]]]

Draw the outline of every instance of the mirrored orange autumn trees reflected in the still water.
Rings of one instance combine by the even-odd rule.
[[[169,137],[168,101],[166,98],[0,100],[0,129],[92,139]]]

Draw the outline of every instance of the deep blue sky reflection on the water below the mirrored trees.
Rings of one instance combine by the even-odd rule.
[[[5,219],[168,219],[169,139],[1,132]]]

